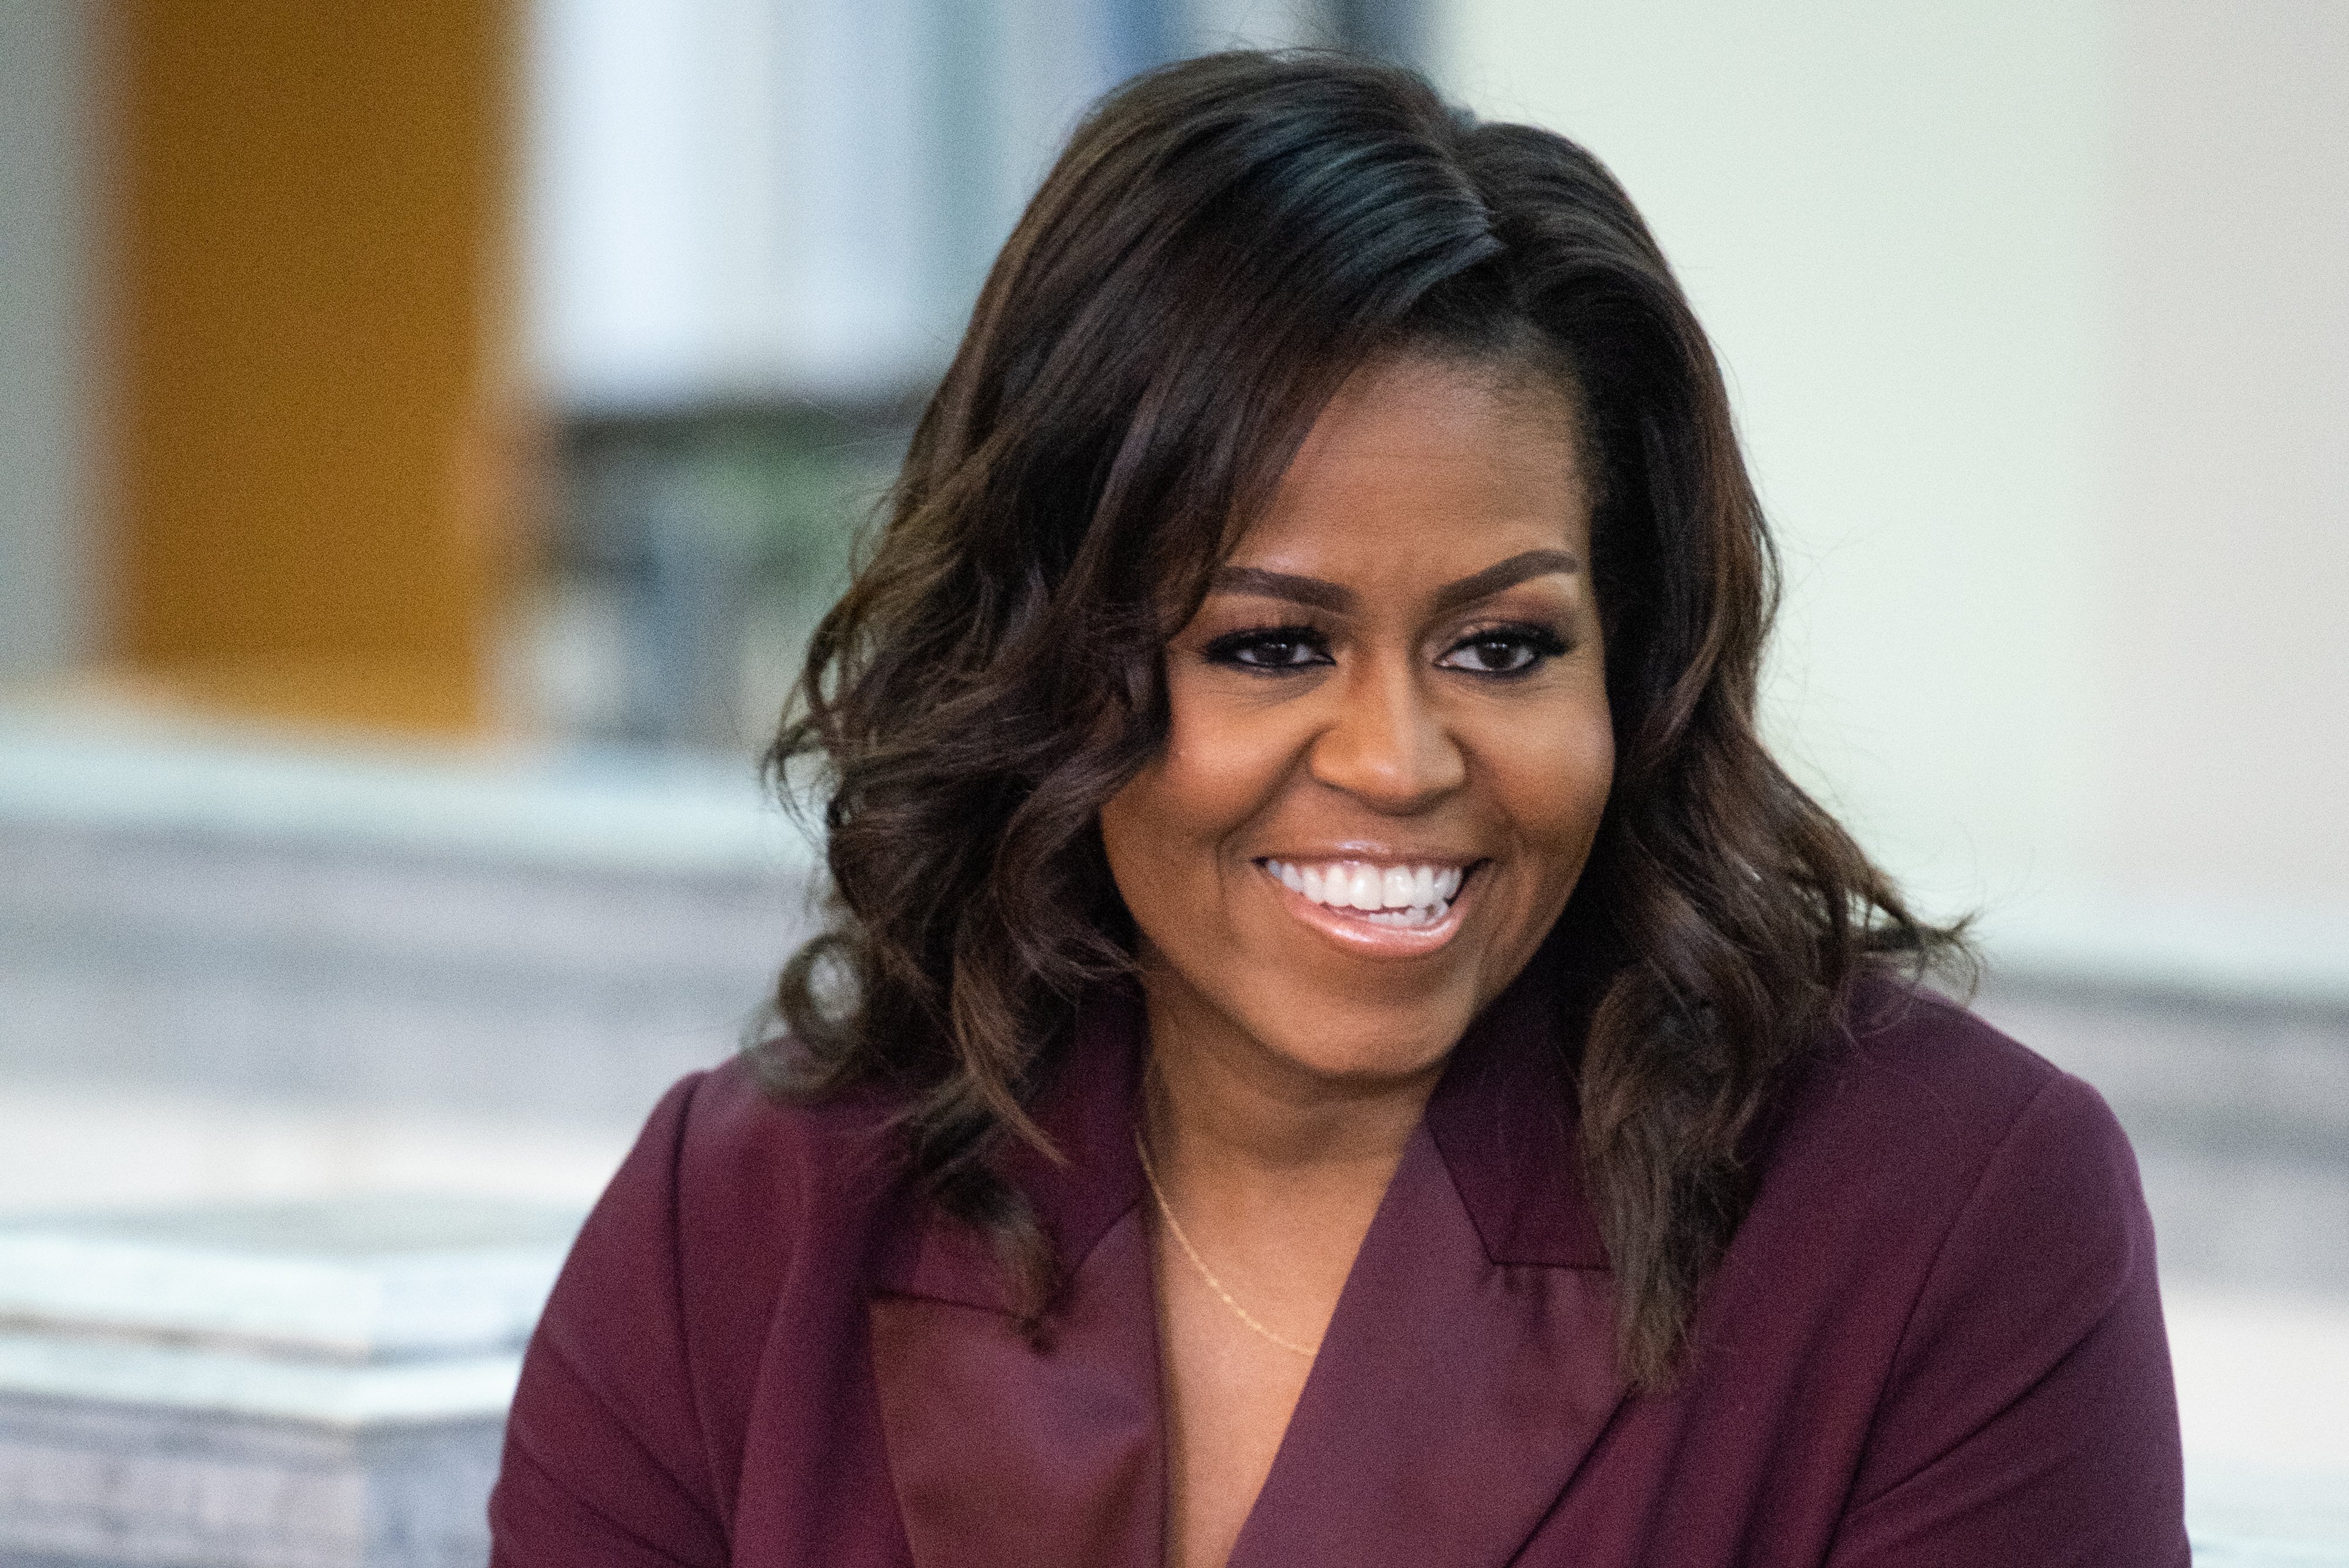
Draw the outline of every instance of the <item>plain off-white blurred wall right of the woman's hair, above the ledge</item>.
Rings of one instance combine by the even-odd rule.
[[[1788,761],[1997,953],[2349,993],[2349,9],[1445,0],[1727,361]]]

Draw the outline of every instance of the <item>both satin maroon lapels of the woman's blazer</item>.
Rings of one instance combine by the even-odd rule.
[[[1132,1145],[1132,993],[1092,998],[1038,1103],[1062,1162],[1008,1174],[1057,1246],[1043,1345],[947,1221],[883,1265],[874,1373],[914,1561],[1158,1568],[1158,1312]],[[1454,1049],[1372,1221],[1280,1455],[1233,1552],[1506,1563],[1623,1399],[1611,1279],[1576,1176],[1553,993],[1520,979]]]

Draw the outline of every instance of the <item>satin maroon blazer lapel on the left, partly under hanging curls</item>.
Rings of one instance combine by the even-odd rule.
[[[881,1270],[874,1380],[918,1568],[1163,1559],[1158,1305],[1132,1148],[1139,1047],[1139,1005],[1097,998],[1036,1108],[1066,1162],[1010,1160],[1071,1270],[1043,1347],[1017,1331],[963,1225],[930,1218]]]

